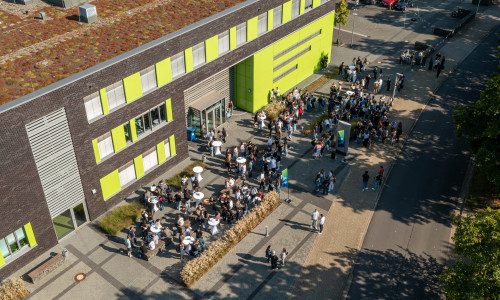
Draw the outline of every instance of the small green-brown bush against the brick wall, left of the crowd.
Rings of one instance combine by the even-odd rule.
[[[137,202],[125,204],[114,209],[99,221],[99,227],[109,234],[117,234],[134,224],[141,215],[142,206]]]

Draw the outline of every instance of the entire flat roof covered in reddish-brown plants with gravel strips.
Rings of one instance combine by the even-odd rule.
[[[99,0],[90,2],[98,13],[98,21],[92,24],[78,22],[78,7],[2,2],[0,106],[21,97],[27,100],[23,96],[146,43],[160,38],[163,42],[171,33],[207,18],[206,22],[211,21],[215,14],[243,2],[246,0]],[[45,12],[45,20],[35,19],[40,12]]]

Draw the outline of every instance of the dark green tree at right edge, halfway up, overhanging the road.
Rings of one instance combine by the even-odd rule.
[[[466,137],[474,165],[500,191],[500,74],[493,74],[476,103],[455,109],[456,135]]]

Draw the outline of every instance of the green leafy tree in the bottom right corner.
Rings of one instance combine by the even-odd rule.
[[[459,257],[439,275],[448,299],[500,299],[500,211],[453,216],[453,252]]]

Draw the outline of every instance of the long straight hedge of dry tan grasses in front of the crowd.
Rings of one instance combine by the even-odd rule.
[[[236,222],[233,227],[227,230],[221,238],[213,242],[199,257],[190,260],[184,265],[181,271],[181,278],[184,284],[191,287],[278,207],[279,203],[279,195],[276,192],[266,194],[260,205],[254,207],[246,216]]]

